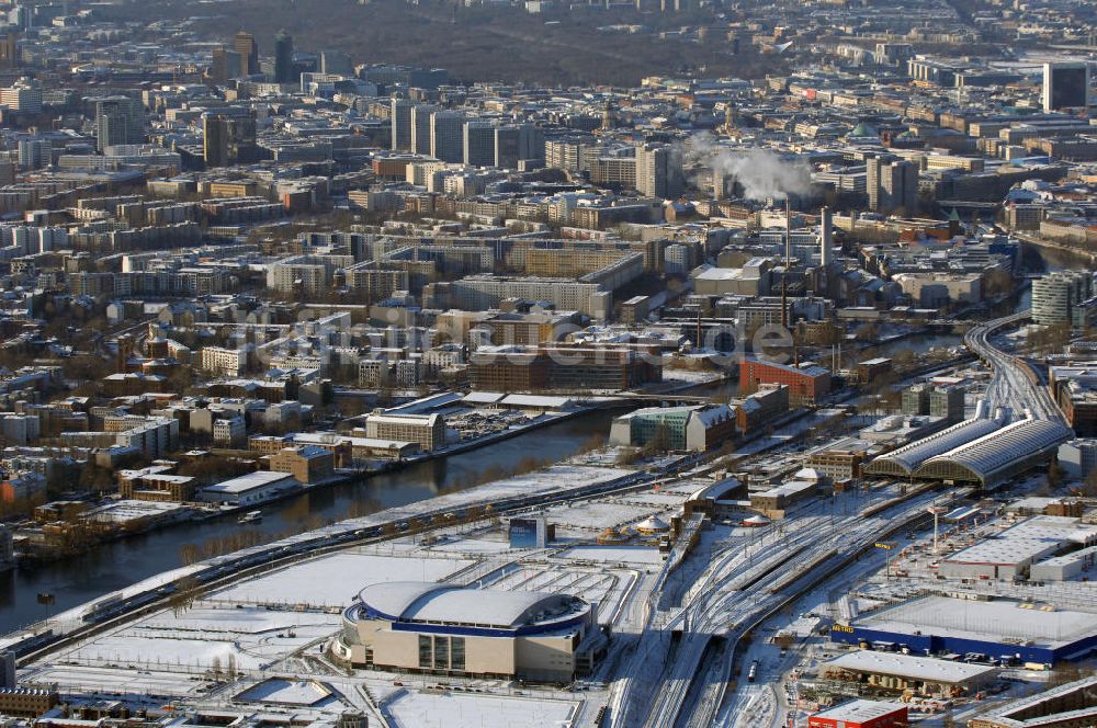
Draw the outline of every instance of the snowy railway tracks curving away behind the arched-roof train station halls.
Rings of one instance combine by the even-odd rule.
[[[1065,423],[1063,412],[1052,399],[1048,388],[1042,386],[1032,367],[1024,359],[997,348],[992,339],[999,330],[1016,326],[1030,316],[1031,310],[1025,310],[984,321],[964,334],[964,345],[994,369],[994,376],[986,390],[986,403],[992,411],[999,407],[1006,408],[1009,410],[1010,419],[1016,420],[1024,417],[1027,410],[1038,420]]]

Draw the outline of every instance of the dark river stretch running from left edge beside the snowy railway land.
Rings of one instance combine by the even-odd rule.
[[[54,613],[182,566],[182,548],[212,538],[261,531],[268,538],[297,532],[313,521],[341,521],[351,515],[433,498],[442,489],[467,485],[488,468],[512,473],[523,458],[561,460],[578,453],[593,435],[609,435],[618,412],[597,410],[533,430],[485,447],[419,463],[287,498],[265,505],[260,523],[241,526],[236,515],[186,522],[90,549],[65,560],[16,568],[0,575],[0,634],[37,622],[46,607],[39,592],[54,594]]]

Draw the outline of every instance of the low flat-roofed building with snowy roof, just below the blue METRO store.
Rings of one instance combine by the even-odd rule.
[[[896,693],[909,691],[915,695],[955,697],[993,684],[998,670],[931,657],[858,650],[824,662],[821,673]]]

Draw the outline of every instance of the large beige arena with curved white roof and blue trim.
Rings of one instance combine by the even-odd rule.
[[[569,594],[377,583],[343,612],[329,648],[353,667],[570,682],[606,649],[596,615]]]

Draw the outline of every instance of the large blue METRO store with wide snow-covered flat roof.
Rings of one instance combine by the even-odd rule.
[[[835,625],[837,642],[1054,664],[1097,647],[1097,614],[1014,600],[923,596]]]

